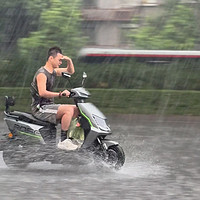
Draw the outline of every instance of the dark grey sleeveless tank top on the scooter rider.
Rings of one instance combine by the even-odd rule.
[[[54,98],[43,98],[43,97],[40,97],[39,95],[36,77],[40,73],[43,73],[47,77],[46,90],[52,91],[54,82],[55,82],[55,77],[56,77],[55,71],[53,71],[53,73],[51,74],[44,67],[41,67],[40,69],[38,69],[38,71],[35,73],[33,82],[31,83],[31,87],[30,87],[31,96],[32,96],[32,104],[31,104],[32,108],[35,108],[38,105],[43,106],[43,105],[54,103]]]

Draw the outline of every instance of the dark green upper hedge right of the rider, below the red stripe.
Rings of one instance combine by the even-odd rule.
[[[92,70],[91,70],[92,69]],[[126,89],[200,90],[200,61],[175,60],[168,64],[136,62],[77,65],[86,71],[87,87]]]

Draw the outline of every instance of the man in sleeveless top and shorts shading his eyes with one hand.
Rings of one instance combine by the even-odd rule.
[[[59,68],[63,60],[67,61],[67,66]],[[61,122],[61,141],[58,143],[58,148],[75,150],[78,146],[68,139],[67,131],[71,120],[79,114],[78,108],[75,105],[54,103],[55,97],[66,98],[70,95],[68,90],[53,92],[55,77],[62,76],[62,72],[73,74],[75,72],[73,62],[71,58],[62,54],[59,47],[52,47],[48,50],[46,64],[38,69],[31,83],[31,108],[33,116],[37,119],[52,124]]]

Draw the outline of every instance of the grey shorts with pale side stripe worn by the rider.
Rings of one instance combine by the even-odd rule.
[[[39,109],[32,108],[32,114],[39,120],[50,122],[52,124],[57,124],[59,121],[56,120],[56,115],[59,106],[60,104],[49,104],[43,105]]]

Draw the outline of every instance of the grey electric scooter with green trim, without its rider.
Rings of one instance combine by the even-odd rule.
[[[62,73],[70,82],[71,75]],[[79,141],[79,148],[73,152],[57,148],[57,126],[36,119],[31,113],[10,111],[15,105],[14,97],[5,97],[5,117],[8,126],[7,143],[3,151],[4,162],[8,166],[25,167],[31,162],[50,161],[68,164],[67,154],[92,154],[95,160],[106,163],[109,167],[120,169],[125,162],[125,154],[118,142],[107,139],[111,135],[105,115],[92,103],[86,102],[91,96],[84,88],[87,74],[84,72],[80,87],[72,88],[73,98],[80,115],[72,128],[70,137]],[[77,138],[77,130],[82,136]],[[73,133],[74,132],[74,133]],[[81,139],[80,139],[81,138]]]

